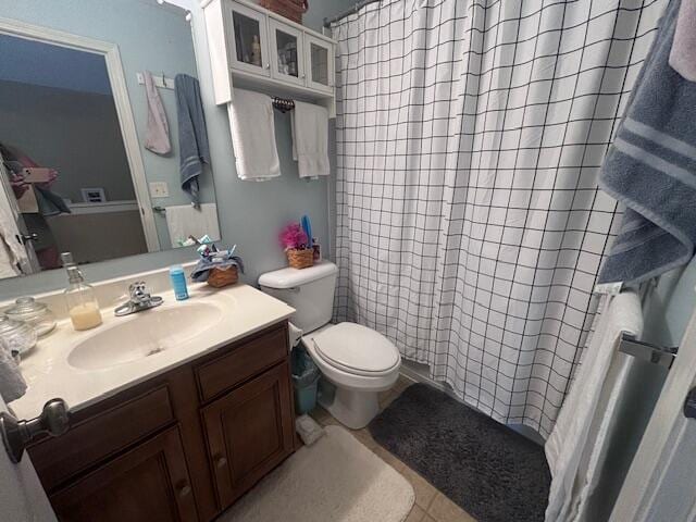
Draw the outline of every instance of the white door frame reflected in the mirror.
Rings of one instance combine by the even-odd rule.
[[[113,101],[119,116],[123,146],[128,160],[130,178],[133,179],[133,188],[140,208],[140,221],[148,252],[159,251],[160,239],[154,224],[154,212],[152,211],[150,192],[145,176],[145,164],[140,153],[140,144],[135,119],[133,117],[133,108],[128,97],[119,45],[4,17],[0,17],[0,33],[104,57]]]

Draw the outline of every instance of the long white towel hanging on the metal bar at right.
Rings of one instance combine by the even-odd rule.
[[[618,352],[622,333],[643,332],[641,300],[634,291],[605,296],[589,346],[583,353],[545,451],[551,471],[547,522],[585,520],[587,499],[597,484],[606,448],[621,407],[629,370]]]

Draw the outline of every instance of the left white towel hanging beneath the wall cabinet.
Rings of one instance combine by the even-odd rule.
[[[235,89],[227,111],[237,176],[251,181],[279,176],[281,161],[275,146],[271,98],[260,92]]]

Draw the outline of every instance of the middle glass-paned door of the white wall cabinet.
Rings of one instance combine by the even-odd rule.
[[[304,85],[304,40],[301,30],[269,18],[271,33],[271,76]]]

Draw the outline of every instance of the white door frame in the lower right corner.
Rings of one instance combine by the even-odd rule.
[[[668,472],[670,465],[680,460],[680,442],[687,436],[688,427],[694,428],[689,423],[696,422],[683,413],[686,395],[695,384],[696,312],[686,326],[674,364],[621,487],[611,513],[612,522],[649,522],[649,517],[655,514],[652,508],[660,509],[660,494],[667,488],[678,494],[674,485],[668,483],[671,476]],[[692,483],[678,486],[687,487],[688,498],[693,497]],[[689,509],[692,513],[696,512],[696,498],[692,498]]]

